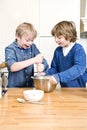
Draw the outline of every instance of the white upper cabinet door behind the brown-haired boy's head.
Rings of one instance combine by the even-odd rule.
[[[61,20],[76,23],[80,27],[80,0],[40,0],[40,36],[50,36],[52,27]]]

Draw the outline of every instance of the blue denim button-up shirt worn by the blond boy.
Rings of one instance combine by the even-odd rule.
[[[5,60],[8,63],[8,87],[34,87],[33,79],[34,65],[30,65],[22,70],[11,72],[10,67],[15,62],[24,61],[35,57],[40,51],[33,43],[30,48],[22,49],[18,46],[16,40],[5,48]],[[43,59],[44,71],[48,69],[48,63]]]

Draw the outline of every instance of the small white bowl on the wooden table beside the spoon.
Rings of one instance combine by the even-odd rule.
[[[24,98],[29,101],[40,101],[44,97],[43,90],[25,90]]]

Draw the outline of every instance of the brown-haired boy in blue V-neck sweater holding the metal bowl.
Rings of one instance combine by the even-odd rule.
[[[57,23],[51,34],[58,47],[55,49],[47,75],[52,75],[52,83],[60,82],[61,87],[85,87],[87,81],[86,54],[83,47],[76,43],[77,32],[74,22]]]

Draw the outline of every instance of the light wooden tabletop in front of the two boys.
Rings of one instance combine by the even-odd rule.
[[[10,88],[0,99],[0,130],[87,130],[85,88],[45,93],[44,105],[19,103],[23,91]]]

